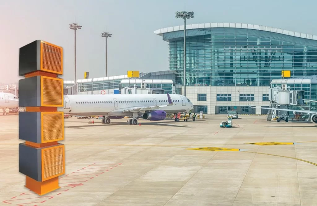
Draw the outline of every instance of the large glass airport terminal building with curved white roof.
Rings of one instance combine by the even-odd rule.
[[[184,26],[154,33],[169,42],[169,69],[182,86]],[[317,74],[317,35],[242,23],[186,25],[186,96],[195,112],[261,114],[246,98],[252,106],[267,107],[268,89],[283,70],[291,71],[290,78]]]

